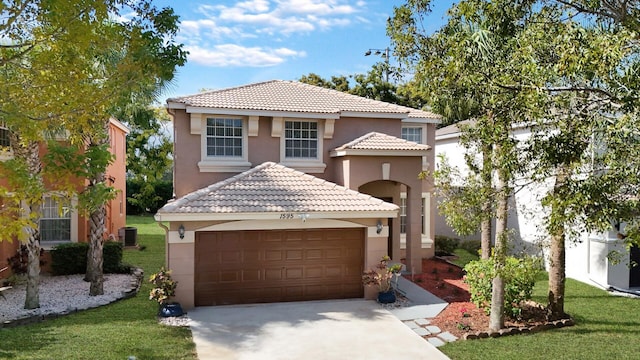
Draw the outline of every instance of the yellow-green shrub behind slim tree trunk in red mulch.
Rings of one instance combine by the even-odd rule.
[[[485,312],[491,310],[491,284],[495,277],[494,259],[480,259],[468,263],[464,281],[469,284],[471,301]],[[507,257],[502,277],[505,283],[504,313],[517,318],[521,303],[531,299],[535,279],[540,272],[540,261],[533,257],[518,259]]]

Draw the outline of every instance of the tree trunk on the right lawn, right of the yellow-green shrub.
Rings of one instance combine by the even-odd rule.
[[[565,186],[568,177],[569,171],[567,166],[559,166],[553,186],[554,196],[560,196],[560,190]],[[559,202],[554,202],[551,208],[552,218],[564,219],[564,211],[564,207]],[[566,280],[564,221],[557,223],[558,225],[551,229],[551,246],[549,248],[549,304],[547,305],[547,311],[551,319],[566,317],[564,312]]]

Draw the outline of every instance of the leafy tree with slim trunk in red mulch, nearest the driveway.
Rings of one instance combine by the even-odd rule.
[[[427,98],[436,104],[434,109],[442,111],[449,106],[449,109],[461,110],[459,113],[467,110],[468,115],[473,116],[474,125],[462,127],[461,142],[479,149],[482,158],[478,162],[475,156],[468,157],[467,163],[475,174],[468,184],[474,184],[477,192],[467,192],[465,196],[475,196],[474,205],[482,213],[476,212],[473,222],[465,226],[480,223],[486,226],[490,213],[496,218],[491,330],[504,325],[501,274],[507,252],[508,199],[513,193],[514,174],[520,166],[511,129],[524,115],[521,94],[498,85],[499,81],[517,81],[520,77],[519,73],[509,71],[508,64],[520,31],[516,20],[523,16],[526,8],[513,6],[504,12],[495,10],[490,2],[460,1],[449,10],[447,24],[433,34],[426,34],[420,30],[420,22],[429,13],[430,2],[407,1],[394,9],[387,28],[397,55],[414,69],[414,81],[421,84]],[[471,99],[466,109],[462,106],[465,104],[462,97]],[[483,233],[483,253],[487,256],[489,244],[486,232]]]

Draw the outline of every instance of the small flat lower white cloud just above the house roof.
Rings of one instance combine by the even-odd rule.
[[[266,67],[283,63],[287,58],[304,57],[304,51],[287,48],[243,47],[235,44],[215,45],[211,49],[188,46],[189,60],[216,67]]]

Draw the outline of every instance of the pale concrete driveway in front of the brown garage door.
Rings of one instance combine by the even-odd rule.
[[[370,300],[198,307],[188,315],[200,360],[448,359]]]

